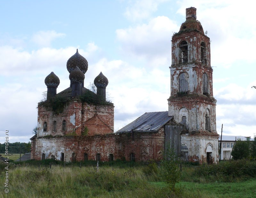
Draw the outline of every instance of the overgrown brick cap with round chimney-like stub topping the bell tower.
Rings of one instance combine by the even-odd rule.
[[[181,24],[179,33],[189,31],[198,31],[204,34],[200,21],[196,20],[196,8],[194,7],[186,9],[186,21]]]

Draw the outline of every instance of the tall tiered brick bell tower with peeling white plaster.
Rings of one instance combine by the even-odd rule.
[[[181,142],[191,150],[193,145],[189,141],[198,144],[198,140],[206,140],[212,149],[216,147],[213,149],[216,155],[211,153],[211,158],[216,161],[218,134],[216,100],[212,91],[210,38],[204,34],[201,23],[196,20],[194,7],[186,9],[186,21],[181,24],[180,31],[172,36],[172,65],[169,68],[171,94],[168,113],[169,116],[174,116],[175,121],[184,125]],[[199,147],[200,144],[202,146],[199,143]],[[204,162],[206,151],[203,152],[200,148],[196,150],[196,153],[190,151],[190,158],[193,153],[199,161],[202,160],[200,163]]]

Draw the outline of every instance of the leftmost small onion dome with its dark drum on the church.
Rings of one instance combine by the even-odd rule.
[[[44,79],[44,83],[47,86],[47,100],[54,97],[57,94],[57,87],[60,84],[60,79],[53,71]]]

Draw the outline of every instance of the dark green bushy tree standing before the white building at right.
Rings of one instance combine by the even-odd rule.
[[[234,148],[231,152],[233,159],[243,159],[250,157],[250,140],[242,141],[241,139],[236,140]]]

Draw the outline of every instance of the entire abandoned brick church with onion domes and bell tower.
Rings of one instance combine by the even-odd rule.
[[[47,100],[38,103],[31,159],[111,161],[161,160],[167,146],[185,161],[218,161],[216,100],[212,92],[210,39],[186,9],[186,21],[172,36],[168,111],[149,112],[114,133],[114,105],[106,101],[108,79],[95,77],[97,93],[84,87],[87,60],[76,51],[67,62],[70,86],[57,93],[59,78],[45,78]]]

